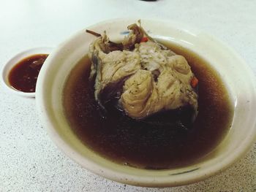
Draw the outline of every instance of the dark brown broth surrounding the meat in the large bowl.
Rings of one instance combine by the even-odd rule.
[[[90,61],[83,58],[69,75],[64,108],[69,124],[84,145],[118,164],[141,169],[167,169],[195,164],[225,137],[233,105],[219,74],[197,54],[177,45],[199,80],[199,113],[188,128],[157,127],[131,120],[116,111],[102,119],[89,82]],[[165,121],[169,120],[165,114]],[[171,123],[171,122],[170,122]]]

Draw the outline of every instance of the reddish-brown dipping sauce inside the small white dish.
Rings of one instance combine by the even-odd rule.
[[[18,91],[35,92],[39,71],[47,57],[48,54],[37,54],[19,61],[10,71],[10,85]]]

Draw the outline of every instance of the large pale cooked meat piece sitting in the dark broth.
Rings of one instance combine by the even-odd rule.
[[[119,109],[129,117],[142,119],[189,105],[195,118],[197,93],[190,85],[195,75],[187,60],[148,37],[140,26],[132,24],[128,28],[130,34],[121,46],[116,44],[115,50],[111,51],[115,44],[106,34],[89,47],[91,79],[95,77],[94,93],[99,106],[104,109],[106,102],[116,99]],[[146,42],[140,42],[143,37]]]

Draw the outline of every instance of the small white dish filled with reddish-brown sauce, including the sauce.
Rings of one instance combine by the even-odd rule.
[[[37,76],[53,47],[35,47],[18,53],[1,72],[5,87],[12,93],[25,97],[35,97]]]

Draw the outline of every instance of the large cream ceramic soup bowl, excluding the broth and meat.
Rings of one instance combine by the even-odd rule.
[[[134,19],[107,20],[88,29],[110,39],[123,37],[122,31]],[[72,132],[64,116],[62,91],[69,72],[86,55],[94,39],[85,29],[67,39],[45,62],[37,82],[37,107],[42,123],[50,137],[70,158],[96,174],[131,185],[165,187],[185,185],[203,180],[226,169],[252,146],[255,141],[256,88],[255,77],[244,61],[229,47],[214,37],[178,23],[159,20],[141,20],[151,37],[164,39],[203,55],[217,69],[227,85],[234,106],[233,125],[222,142],[202,161],[179,169],[146,170],[115,164],[102,158],[82,144]]]

